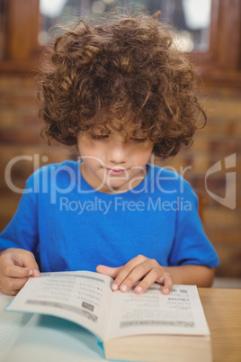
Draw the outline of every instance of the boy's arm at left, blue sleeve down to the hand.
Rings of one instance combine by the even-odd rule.
[[[37,181],[38,174],[36,173]],[[34,255],[39,241],[38,193],[31,175],[13,219],[0,234],[0,292],[15,295],[30,276],[40,276]],[[29,251],[31,250],[31,251]],[[33,254],[34,253],[34,254]]]

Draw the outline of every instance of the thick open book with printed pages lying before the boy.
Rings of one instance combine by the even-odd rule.
[[[211,361],[210,330],[196,286],[164,295],[112,292],[112,277],[94,272],[42,273],[30,278],[5,310],[51,314],[90,330],[106,359]]]

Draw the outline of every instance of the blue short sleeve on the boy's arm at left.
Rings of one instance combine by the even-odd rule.
[[[0,234],[0,251],[9,248],[38,249],[38,193],[34,192],[34,176],[27,180],[13,219]]]

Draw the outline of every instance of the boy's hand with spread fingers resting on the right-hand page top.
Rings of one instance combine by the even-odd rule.
[[[142,294],[155,282],[164,285],[163,294],[169,294],[174,285],[172,277],[165,271],[164,267],[161,267],[155,259],[146,258],[143,255],[130,259],[123,267],[99,265],[96,267],[96,271],[115,278],[112,283],[112,290],[114,291],[121,289],[121,292],[128,292],[131,286],[143,276],[145,277],[135,287],[137,294]]]

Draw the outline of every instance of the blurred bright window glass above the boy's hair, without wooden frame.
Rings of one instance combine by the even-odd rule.
[[[128,6],[131,0],[40,0],[39,42],[48,42],[49,28],[54,23],[70,23],[76,16],[112,12],[113,5]],[[177,29],[176,43],[184,51],[206,52],[210,46],[211,0],[138,0],[136,5],[145,5],[153,14],[162,11],[161,20]]]

